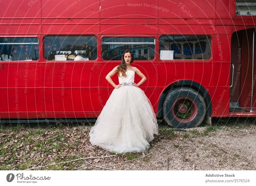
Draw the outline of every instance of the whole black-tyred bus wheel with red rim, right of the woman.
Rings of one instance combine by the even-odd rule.
[[[164,120],[175,128],[198,127],[204,120],[205,112],[204,98],[188,87],[173,89],[164,100]]]

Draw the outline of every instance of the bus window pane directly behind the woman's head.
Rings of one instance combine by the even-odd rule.
[[[134,60],[152,60],[155,57],[155,38],[103,37],[101,52],[104,60],[121,60],[124,50],[130,49]]]

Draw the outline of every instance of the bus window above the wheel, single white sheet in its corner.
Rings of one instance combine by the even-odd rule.
[[[211,58],[209,36],[161,36],[159,39],[161,60],[196,60]]]

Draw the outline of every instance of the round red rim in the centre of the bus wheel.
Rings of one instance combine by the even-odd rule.
[[[172,105],[172,115],[182,123],[192,121],[197,115],[197,104],[189,97],[180,97]]]

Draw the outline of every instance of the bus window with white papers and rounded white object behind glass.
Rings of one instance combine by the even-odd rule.
[[[46,60],[95,60],[97,58],[96,36],[46,36],[44,38]]]

